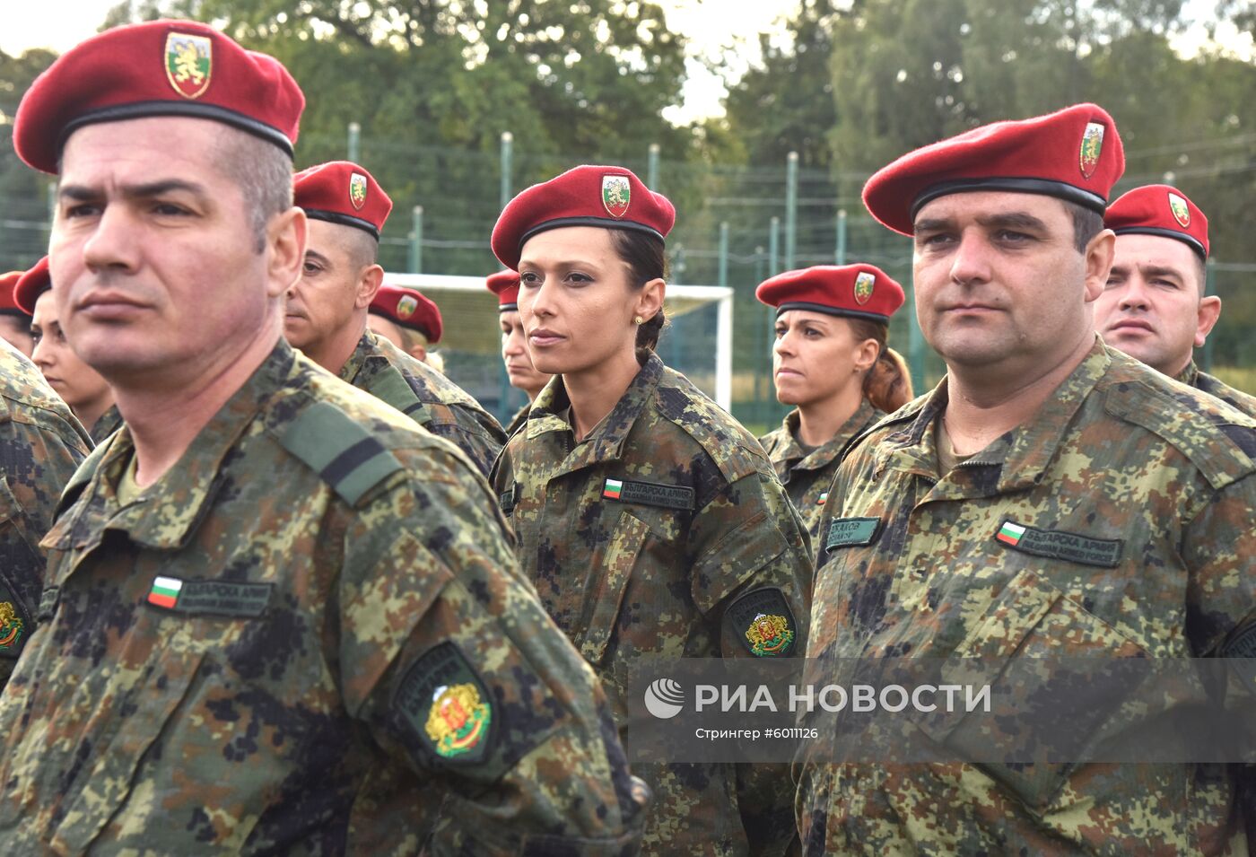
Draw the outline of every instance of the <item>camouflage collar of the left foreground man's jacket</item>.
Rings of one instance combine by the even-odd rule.
[[[212,503],[227,479],[222,472],[224,457],[266,401],[289,383],[295,363],[296,353],[280,338],[261,366],[201,428],[178,461],[142,491],[139,501],[119,509],[118,479],[134,454],[131,431],[123,426],[100,450],[100,457],[93,456],[95,466],[88,474],[90,481],[84,496],[54,524],[44,545],[63,550],[85,548],[98,544],[106,529],[116,529],[148,548],[172,550],[182,547],[196,529],[202,509]],[[158,501],[146,501],[154,495]]]

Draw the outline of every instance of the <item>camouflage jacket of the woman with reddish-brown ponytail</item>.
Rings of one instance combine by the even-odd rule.
[[[816,543],[820,515],[829,499],[829,485],[833,484],[833,474],[838,471],[842,450],[860,432],[872,428],[883,416],[885,415],[865,398],[831,440],[810,452],[804,452],[798,442],[799,416],[798,408],[794,408],[785,415],[780,428],[759,439],[776,469],[776,478],[789,494],[790,503],[803,515],[813,545]]]

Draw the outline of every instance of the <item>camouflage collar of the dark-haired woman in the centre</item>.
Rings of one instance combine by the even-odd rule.
[[[574,445],[561,470],[570,471],[594,461],[620,457],[628,432],[632,431],[633,423],[644,410],[646,402],[654,397],[662,377],[663,361],[657,354],[651,354],[610,413],[597,425],[588,437]],[[533,402],[528,416],[528,439],[533,440],[551,431],[570,432],[571,426],[563,418],[563,412],[570,405],[566,388],[563,386],[563,376],[554,376]]]

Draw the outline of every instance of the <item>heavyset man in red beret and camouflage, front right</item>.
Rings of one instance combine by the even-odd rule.
[[[927,146],[864,187],[873,216],[914,240],[916,310],[947,376],[865,435],[829,489],[813,684],[854,658],[1024,676],[1026,658],[1256,656],[1256,421],[1094,333],[1115,240],[1103,212],[1123,166],[1112,117],[1076,104]],[[1212,675],[1221,687],[1169,696],[1163,716],[1225,700],[1251,723],[1245,682]],[[1110,709],[1091,705],[1123,701],[1079,696],[1053,699],[1055,716],[1096,724]],[[808,854],[1221,854],[1243,842],[1232,767],[1016,764],[997,736],[1029,730],[1024,718],[1001,733],[981,731],[988,719],[976,731],[929,723],[887,711],[867,735],[906,728],[894,734],[914,741],[800,767]]]

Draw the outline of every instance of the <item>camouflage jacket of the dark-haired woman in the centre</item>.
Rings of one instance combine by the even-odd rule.
[[[801,655],[809,540],[755,439],[656,356],[579,444],[568,406],[554,378],[494,486],[524,573],[594,665],[619,723],[636,657]],[[776,645],[747,635],[759,613],[788,620]],[[654,792],[648,853],[769,853],[793,838],[788,770],[751,772],[741,793],[734,765],[633,773]],[[755,789],[770,797],[747,798]]]

